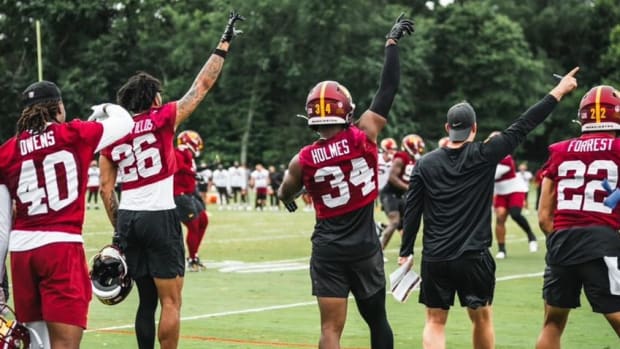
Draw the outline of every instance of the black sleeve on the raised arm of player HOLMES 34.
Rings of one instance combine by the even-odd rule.
[[[398,58],[398,47],[396,45],[388,45],[385,48],[385,62],[381,72],[381,84],[369,109],[387,118],[399,83],[400,60]]]

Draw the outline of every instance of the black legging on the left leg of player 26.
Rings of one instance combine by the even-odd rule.
[[[136,338],[138,348],[153,349],[155,347],[155,310],[157,310],[157,288],[150,277],[136,280],[140,304],[136,313]]]

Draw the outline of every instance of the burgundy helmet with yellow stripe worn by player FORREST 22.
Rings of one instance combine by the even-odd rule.
[[[596,86],[579,103],[581,132],[620,130],[620,92],[611,86]]]

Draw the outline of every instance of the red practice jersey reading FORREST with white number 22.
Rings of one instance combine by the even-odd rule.
[[[555,181],[557,204],[553,228],[604,225],[620,229],[620,206],[603,205],[607,192],[602,180],[618,185],[620,139],[594,133],[549,146],[543,176]]]

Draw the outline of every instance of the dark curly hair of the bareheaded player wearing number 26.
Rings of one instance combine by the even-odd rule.
[[[151,108],[158,92],[161,92],[161,82],[148,73],[139,72],[118,90],[116,101],[137,114]]]

